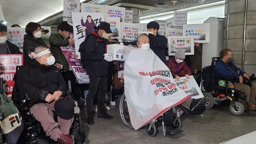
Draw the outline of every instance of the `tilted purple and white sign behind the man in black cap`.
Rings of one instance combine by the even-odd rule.
[[[86,75],[86,70],[82,68],[82,63],[79,59],[74,58],[74,53],[76,52],[75,46],[60,47],[61,51],[65,55],[67,61],[69,62],[72,71],[74,72],[78,83],[89,83],[89,76]]]

